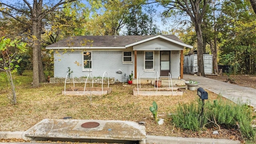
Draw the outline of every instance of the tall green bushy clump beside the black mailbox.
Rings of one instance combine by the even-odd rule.
[[[202,110],[202,102],[198,100],[190,104],[179,104],[176,114],[172,115],[172,122],[179,128],[185,130],[199,131],[203,128],[216,126],[220,132],[221,127],[234,128],[241,134],[242,139],[256,140],[256,130],[252,127],[252,120],[256,117],[250,106],[242,102],[234,104],[230,101],[207,100]]]

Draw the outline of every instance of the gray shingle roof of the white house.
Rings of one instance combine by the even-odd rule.
[[[156,35],[146,35],[146,36],[72,36],[66,39],[60,40],[54,44],[47,46],[47,48],[56,48],[56,47],[81,47],[81,46],[89,46],[89,47],[120,47],[126,46],[128,44],[132,44],[134,42],[138,42],[140,40],[145,40],[147,38],[151,38]],[[176,40],[178,42],[182,42],[175,35],[162,35],[172,40]],[[184,42],[182,42],[184,43]]]

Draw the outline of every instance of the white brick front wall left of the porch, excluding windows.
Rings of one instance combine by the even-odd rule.
[[[83,52],[75,51],[67,52],[65,54],[54,53],[54,77],[64,78],[68,73],[68,67],[73,71],[74,77],[88,76],[89,72],[84,72],[82,65],[78,66],[74,62],[83,64]],[[88,51],[90,52],[90,51]],[[133,52],[133,63],[132,64],[122,64],[122,51],[91,51],[92,52],[92,76],[102,77],[104,72],[108,73],[109,78],[115,78],[122,82],[124,78],[124,73],[126,76],[134,73],[134,52]],[[116,73],[118,69],[122,70],[122,74]],[[104,75],[104,77],[107,74]]]

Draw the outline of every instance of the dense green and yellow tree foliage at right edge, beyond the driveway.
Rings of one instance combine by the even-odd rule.
[[[218,18],[221,35],[221,56],[232,52],[241,73],[256,72],[256,15],[248,0],[224,1],[222,16]],[[222,60],[223,61],[223,60]],[[235,63],[233,62],[233,63]]]

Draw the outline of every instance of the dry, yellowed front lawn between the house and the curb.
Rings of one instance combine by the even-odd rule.
[[[147,135],[237,139],[236,134],[228,130],[216,136],[212,134],[214,128],[192,132],[180,130],[171,123],[169,114],[175,113],[178,103],[198,100],[196,91],[183,89],[183,96],[133,96],[135,85],[110,84],[111,94],[92,96],[91,105],[87,96],[62,95],[64,84],[41,84],[39,88],[30,86],[17,86],[18,104],[15,106],[9,104],[7,92],[0,92],[0,131],[25,131],[45,118],[71,116],[73,119],[144,121]],[[94,84],[94,87],[101,85]],[[217,94],[207,92],[209,100],[218,97]],[[158,104],[158,117],[164,119],[163,125],[156,124],[149,110],[153,101]]]

